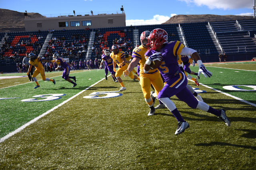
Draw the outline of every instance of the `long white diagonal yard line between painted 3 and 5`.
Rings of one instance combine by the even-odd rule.
[[[110,74],[110,75],[111,75],[111,74]],[[102,78],[100,81],[102,81],[102,80],[105,80],[105,78]],[[34,118],[33,120],[31,120],[31,121],[29,121],[28,123],[26,123],[25,125],[19,127],[19,128],[16,129],[15,131],[13,131],[13,132],[11,132],[11,133],[8,133],[6,136],[4,136],[4,137],[2,137],[2,138],[0,139],[0,143],[4,142],[6,139],[8,139],[9,137],[11,137],[12,135],[15,135],[16,133],[22,131],[25,127],[27,127],[27,126],[31,125],[32,123],[36,122],[36,121],[37,121],[38,119],[40,119],[41,117],[44,117],[44,116],[47,115],[48,113],[50,113],[50,112],[54,111],[55,109],[57,109],[58,107],[64,105],[66,102],[72,100],[73,98],[75,98],[76,96],[78,96],[79,94],[81,94],[82,92],[85,92],[86,90],[88,90],[88,89],[91,88],[92,86],[98,84],[100,81],[98,81],[98,82],[92,84],[90,87],[88,87],[88,88],[82,90],[81,92],[79,92],[78,94],[72,96],[72,97],[69,98],[68,100],[62,102],[62,103],[59,104],[58,106],[55,106],[55,107],[53,107],[52,109],[50,109],[50,110],[46,111],[45,113],[43,113],[42,115],[40,115],[40,116]]]

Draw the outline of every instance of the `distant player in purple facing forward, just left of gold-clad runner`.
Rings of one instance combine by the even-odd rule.
[[[105,78],[106,78],[106,80],[108,80],[107,76],[108,76],[108,71],[109,71],[111,73],[111,75],[112,75],[113,82],[118,82],[118,80],[117,80],[117,78],[115,76],[116,72],[114,72],[114,70],[113,70],[114,66],[113,66],[113,60],[110,57],[110,51],[105,50],[104,54],[102,54],[101,58],[102,58],[102,62],[100,63],[100,68],[102,68],[103,62],[105,62],[104,63],[104,65],[105,65],[104,70],[105,70]]]

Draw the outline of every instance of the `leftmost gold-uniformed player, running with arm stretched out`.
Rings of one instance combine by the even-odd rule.
[[[28,73],[30,72],[32,66],[34,66],[36,68],[36,70],[34,71],[34,74],[32,75],[32,78],[34,79],[34,81],[36,82],[36,87],[34,88],[38,88],[40,87],[37,80],[36,80],[36,76],[40,73],[41,74],[41,77],[42,77],[42,80],[43,81],[51,81],[55,84],[55,80],[54,79],[50,79],[50,78],[45,78],[45,73],[44,73],[44,67],[42,65],[41,62],[51,62],[50,60],[42,60],[40,57],[36,57],[34,55],[34,53],[30,53],[29,55],[29,68],[28,68],[28,72],[27,72],[27,75]]]

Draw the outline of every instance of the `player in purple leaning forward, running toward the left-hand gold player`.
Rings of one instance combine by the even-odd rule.
[[[60,57],[58,53],[55,53],[53,55],[53,59],[54,59],[53,61],[55,61],[58,64],[58,67],[55,68],[55,70],[59,70],[61,67],[63,67],[64,71],[62,73],[62,78],[64,78],[68,82],[72,83],[73,84],[72,87],[75,87],[77,85],[76,84],[76,76],[73,76],[73,77],[69,76],[71,65],[69,63],[66,63],[66,61],[62,57]],[[75,82],[70,80],[70,78],[72,78]]]

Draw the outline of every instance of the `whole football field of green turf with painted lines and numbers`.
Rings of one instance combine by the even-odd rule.
[[[188,84],[226,109],[231,126],[173,96],[190,124],[180,135],[167,108],[147,115],[129,77],[121,76],[127,90],[119,92],[103,69],[71,71],[75,88],[62,72],[46,72],[55,85],[37,76],[37,89],[26,73],[0,74],[0,169],[256,169],[256,62],[205,66],[213,76]]]

